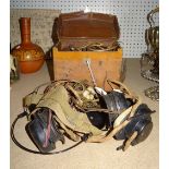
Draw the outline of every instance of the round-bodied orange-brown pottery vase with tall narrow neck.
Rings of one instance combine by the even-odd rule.
[[[45,61],[43,49],[31,41],[31,17],[21,17],[21,44],[12,49],[12,56],[19,60],[21,73],[38,71]]]

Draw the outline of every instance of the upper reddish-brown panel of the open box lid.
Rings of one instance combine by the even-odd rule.
[[[88,12],[60,14],[57,34],[62,38],[119,39],[120,28],[116,15]]]

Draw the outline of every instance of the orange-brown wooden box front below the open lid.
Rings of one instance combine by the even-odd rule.
[[[86,60],[90,61],[97,86],[105,87],[105,82],[121,77],[122,48],[118,51],[58,51],[52,48],[55,80],[87,80],[92,83]]]

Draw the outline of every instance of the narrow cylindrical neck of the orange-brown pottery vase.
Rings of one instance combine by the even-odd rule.
[[[21,17],[21,43],[29,44],[31,43],[31,17]]]

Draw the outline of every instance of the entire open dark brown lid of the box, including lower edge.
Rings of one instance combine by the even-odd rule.
[[[59,15],[57,25],[60,50],[89,43],[112,45],[120,37],[118,19],[110,14],[83,11],[63,13]]]

